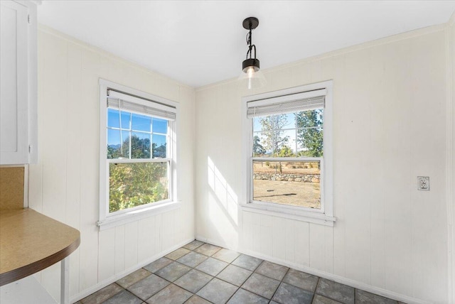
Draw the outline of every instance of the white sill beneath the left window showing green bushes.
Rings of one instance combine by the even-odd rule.
[[[121,215],[114,215],[112,217],[107,217],[106,219],[99,220],[97,226],[100,227],[100,231],[117,227],[122,224],[127,224],[129,222],[134,222],[139,219],[144,219],[146,217],[151,217],[152,215],[159,215],[163,212],[168,212],[175,210],[181,207],[181,202],[166,202],[164,204],[147,207],[141,210],[134,210],[131,212],[125,212]]]

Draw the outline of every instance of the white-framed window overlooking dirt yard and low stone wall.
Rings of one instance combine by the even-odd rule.
[[[331,82],[245,97],[247,204],[333,225]]]

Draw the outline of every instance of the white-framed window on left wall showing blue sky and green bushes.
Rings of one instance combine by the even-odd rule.
[[[100,227],[175,197],[176,104],[100,80]]]

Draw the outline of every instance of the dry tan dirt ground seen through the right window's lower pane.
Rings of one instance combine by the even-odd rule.
[[[321,209],[319,183],[253,180],[253,200]]]

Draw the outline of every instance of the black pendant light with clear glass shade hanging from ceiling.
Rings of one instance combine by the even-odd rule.
[[[259,70],[259,59],[256,58],[256,45],[252,44],[252,30],[259,26],[259,20],[255,17],[248,17],[243,21],[243,28],[248,30],[247,33],[247,58],[242,63],[242,74],[239,80],[247,82],[248,89],[263,87],[266,84],[264,75]],[[254,51],[254,57],[253,57]]]

